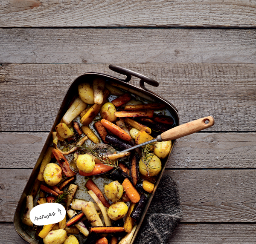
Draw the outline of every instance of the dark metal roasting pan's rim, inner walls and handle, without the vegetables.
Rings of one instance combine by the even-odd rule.
[[[32,190],[32,187],[34,185],[34,182],[37,178],[37,175],[38,175],[38,172],[39,172],[39,169],[40,169],[41,161],[44,157],[45,152],[47,151],[48,146],[52,142],[52,132],[53,132],[55,126],[59,123],[59,121],[63,117],[64,113],[66,112],[68,103],[74,97],[74,95],[77,94],[77,87],[80,83],[83,83],[84,81],[86,81],[88,79],[91,80],[91,79],[96,78],[96,77],[102,77],[106,80],[106,82],[113,82],[113,83],[116,83],[120,86],[124,86],[126,89],[129,89],[128,92],[131,92],[131,93],[135,92],[137,94],[140,94],[141,96],[149,97],[149,98],[155,100],[156,102],[161,102],[161,103],[166,104],[166,108],[171,112],[171,114],[173,116],[175,125],[178,126],[180,124],[178,110],[176,109],[176,107],[172,103],[170,103],[168,100],[160,97],[159,95],[157,95],[156,93],[148,90],[145,87],[145,84],[144,84],[145,82],[152,85],[152,86],[158,86],[159,83],[156,80],[153,80],[153,79],[148,78],[144,75],[141,75],[137,72],[134,72],[134,71],[131,71],[129,69],[119,67],[119,66],[116,66],[116,65],[111,64],[111,65],[109,65],[109,68],[111,70],[115,71],[115,72],[118,72],[119,74],[126,75],[126,79],[122,80],[120,78],[116,78],[114,76],[106,75],[106,74],[103,74],[103,73],[96,73],[96,72],[85,73],[84,75],[79,76],[78,78],[76,78],[72,82],[72,84],[70,85],[70,88],[68,89],[68,91],[67,91],[67,93],[66,93],[66,95],[65,95],[65,97],[64,97],[64,99],[61,103],[60,109],[59,109],[58,114],[55,118],[52,129],[51,129],[51,131],[49,132],[49,134],[47,136],[47,140],[46,140],[46,142],[43,146],[43,149],[41,150],[40,156],[39,156],[39,158],[38,158],[38,160],[35,164],[35,167],[34,167],[32,173],[29,177],[29,180],[28,180],[28,182],[27,182],[27,184],[26,184],[26,186],[25,186],[25,188],[24,188],[24,190],[21,194],[20,200],[18,201],[18,204],[17,204],[15,215],[14,215],[15,230],[17,231],[18,235],[20,235],[20,237],[23,238],[24,241],[26,241],[30,244],[38,244],[38,241],[35,240],[32,237],[32,235],[30,235],[26,231],[26,228],[24,228],[24,225],[21,222],[23,211],[24,211],[24,208],[25,208],[25,205],[26,205],[26,196],[30,195],[30,192]],[[137,78],[140,78],[140,88],[128,83],[131,80],[131,76],[135,76]],[[140,226],[143,223],[143,219],[144,219],[145,214],[148,210],[149,204],[151,203],[151,200],[154,196],[154,192],[157,190],[157,186],[158,186],[158,184],[160,182],[160,179],[163,175],[164,169],[165,169],[166,164],[169,160],[172,149],[175,145],[175,141],[176,140],[172,141],[172,148],[171,148],[171,151],[169,153],[169,156],[162,160],[162,171],[160,172],[159,175],[157,175],[158,179],[157,179],[157,182],[155,184],[154,191],[151,193],[150,197],[148,198],[148,202],[146,204],[146,207],[145,207],[143,215],[140,219],[140,222],[138,223],[138,227],[137,227],[137,229],[134,233],[133,239],[131,240],[131,244],[134,243],[136,235],[137,235],[137,233],[140,229]]]

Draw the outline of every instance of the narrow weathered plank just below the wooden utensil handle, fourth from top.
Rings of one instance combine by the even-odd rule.
[[[47,135],[47,132],[0,133],[0,168],[33,168]],[[255,168],[255,138],[256,133],[189,135],[177,139],[166,167]]]

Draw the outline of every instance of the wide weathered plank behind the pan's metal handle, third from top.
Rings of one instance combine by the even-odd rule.
[[[215,125],[208,131],[256,131],[254,64],[121,66],[158,80],[160,86],[149,89],[177,106],[181,123],[212,115]],[[89,71],[116,75],[108,64],[3,65],[0,131],[49,131],[70,83]]]

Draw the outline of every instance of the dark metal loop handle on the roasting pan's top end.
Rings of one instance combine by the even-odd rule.
[[[120,66],[117,66],[117,65],[113,65],[113,64],[110,64],[108,66],[108,68],[117,72],[117,73],[119,73],[119,74],[126,75],[127,78],[124,80],[125,82],[130,81],[132,75],[137,77],[137,78],[140,78],[140,86],[143,89],[146,89],[145,86],[144,86],[144,82],[148,83],[151,86],[159,86],[159,83],[156,80],[148,78],[147,76],[141,75],[140,73],[134,72],[130,69],[126,69],[126,68],[123,68],[123,67],[120,67]]]

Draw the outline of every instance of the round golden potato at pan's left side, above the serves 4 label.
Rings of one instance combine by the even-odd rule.
[[[49,163],[44,169],[44,181],[49,186],[55,186],[62,179],[62,169],[58,164]]]

